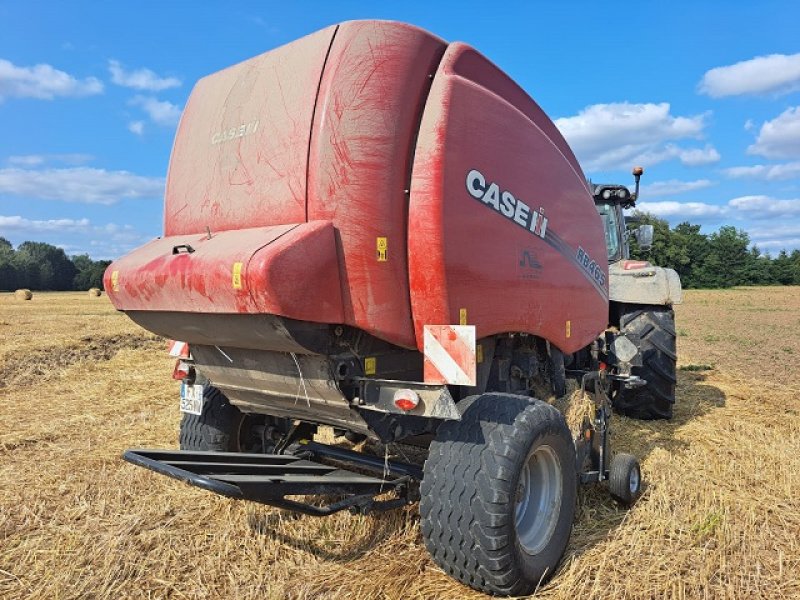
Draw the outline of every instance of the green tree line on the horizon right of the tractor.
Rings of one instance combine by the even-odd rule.
[[[750,246],[750,236],[730,225],[711,234],[700,225],[669,223],[648,213],[635,213],[639,224],[653,225],[653,247],[642,252],[631,236],[631,255],[675,269],[684,288],[728,288],[735,285],[800,285],[800,250],[781,250],[774,258]]]

